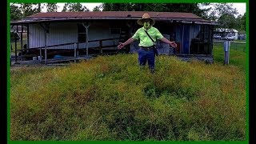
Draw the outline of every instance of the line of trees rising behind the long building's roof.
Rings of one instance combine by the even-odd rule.
[[[31,14],[42,12],[46,7],[47,12],[57,12],[57,3],[12,3],[10,5],[10,20],[20,20]],[[208,8],[202,8],[208,7]],[[90,11],[80,2],[66,2],[62,11]],[[93,11],[162,11],[162,12],[189,12],[199,17],[218,22],[216,27],[234,28],[240,32],[246,31],[246,13],[238,14],[232,4],[217,3],[102,3],[95,6]]]

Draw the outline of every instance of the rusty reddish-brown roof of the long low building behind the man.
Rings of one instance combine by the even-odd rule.
[[[200,23],[215,25],[215,22],[205,20],[192,13],[179,12],[152,12],[152,11],[80,11],[80,12],[47,12],[32,14],[29,17],[22,18],[20,21],[10,22],[33,23],[33,22],[58,22],[72,20],[88,20],[88,19],[139,19],[143,14],[150,14],[150,18],[156,21],[176,21],[185,23]]]

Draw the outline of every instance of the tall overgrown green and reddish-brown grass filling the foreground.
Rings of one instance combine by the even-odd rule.
[[[10,74],[11,140],[245,140],[246,78],[238,66],[136,54]]]

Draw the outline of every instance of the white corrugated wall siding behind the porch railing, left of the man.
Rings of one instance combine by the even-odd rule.
[[[46,45],[59,45],[64,43],[78,42],[78,30],[76,22],[50,23],[49,34],[47,34]],[[30,25],[30,48],[45,46],[45,32],[42,26],[38,24]],[[90,40],[118,38],[119,34],[110,34],[110,23],[104,23],[100,26],[89,27]],[[103,41],[102,46],[117,45],[118,40]],[[90,47],[99,46],[99,42],[89,42]],[[80,43],[79,48],[86,48],[86,42]],[[74,44],[66,46],[49,47],[48,49],[74,49]]]

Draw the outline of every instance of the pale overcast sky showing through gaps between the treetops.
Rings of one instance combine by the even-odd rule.
[[[86,6],[90,11],[94,9],[95,6],[99,6],[102,3],[94,3],[94,2],[81,2],[82,6]],[[238,10],[239,14],[245,14],[246,12],[246,2],[235,2],[232,3],[233,7]],[[58,11],[62,11],[64,3],[57,3]],[[46,9],[43,10],[43,12],[46,12]]]

